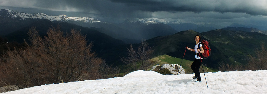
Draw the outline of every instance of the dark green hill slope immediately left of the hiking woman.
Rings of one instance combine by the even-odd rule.
[[[163,55],[170,52],[182,53],[185,46],[194,44],[194,36],[198,34],[193,30],[181,31],[169,36],[158,36],[147,40],[155,49],[155,55]]]

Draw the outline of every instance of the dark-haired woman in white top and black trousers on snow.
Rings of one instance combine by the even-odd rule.
[[[195,46],[194,49],[191,49],[191,48],[188,48],[188,47],[185,47],[185,49],[190,50],[190,51],[193,51],[193,52],[196,52],[195,60],[192,63],[191,68],[192,68],[192,70],[195,73],[195,76],[193,77],[193,79],[198,79],[197,81],[200,82],[201,81],[201,77],[200,77],[199,68],[201,66],[201,60],[203,61],[203,58],[200,58],[198,52],[200,52],[201,54],[203,54],[204,53],[204,50],[203,50],[203,47],[202,47],[202,44],[201,44],[201,37],[200,37],[200,35],[196,35],[195,36],[195,41],[196,41],[196,46]]]

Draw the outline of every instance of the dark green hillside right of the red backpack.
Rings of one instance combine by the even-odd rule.
[[[257,32],[214,30],[202,33],[212,44],[212,57],[217,62],[233,65],[246,65],[249,55],[254,56],[254,50],[260,48],[261,43],[267,42],[267,35]]]

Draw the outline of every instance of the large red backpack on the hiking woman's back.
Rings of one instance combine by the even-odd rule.
[[[209,42],[203,39],[202,42],[201,42],[201,44],[202,44],[202,47],[204,49],[204,53],[202,54],[202,57],[201,58],[207,59],[209,57],[209,55],[210,55]],[[199,45],[200,44],[198,44],[198,47],[199,47]]]

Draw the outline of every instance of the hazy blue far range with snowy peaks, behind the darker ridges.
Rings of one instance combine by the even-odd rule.
[[[27,14],[10,9],[0,9],[0,35],[7,35],[19,30],[37,20],[49,20],[51,22],[66,22],[79,26],[89,27],[101,33],[107,34],[115,39],[120,39],[125,43],[139,43],[142,39],[151,39],[156,36],[172,35],[179,31],[192,29],[197,32],[206,32],[220,29],[211,23],[193,24],[185,23],[181,20],[164,21],[158,18],[127,19],[123,23],[105,23],[91,17],[68,17],[67,15],[49,16],[44,13]],[[241,24],[231,25],[241,26]],[[231,27],[230,26],[230,27]],[[244,26],[243,26],[244,27]],[[226,28],[226,27],[225,27]],[[260,31],[263,32],[264,31]]]

